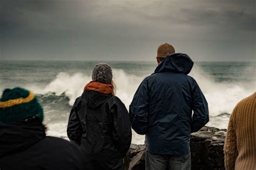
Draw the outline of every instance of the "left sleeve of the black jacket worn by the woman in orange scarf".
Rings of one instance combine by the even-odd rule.
[[[77,114],[76,103],[77,100],[70,111],[67,133],[70,141],[73,141],[80,145],[80,139],[82,136],[82,126],[80,124],[80,120]]]

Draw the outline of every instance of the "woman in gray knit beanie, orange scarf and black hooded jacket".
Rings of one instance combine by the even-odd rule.
[[[114,92],[111,67],[99,63],[70,112],[68,137],[83,148],[89,169],[124,169],[131,125],[125,105]]]

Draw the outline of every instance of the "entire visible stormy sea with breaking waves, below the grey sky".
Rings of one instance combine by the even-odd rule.
[[[0,60],[0,90],[21,86],[34,91],[45,112],[48,134],[66,137],[71,105],[91,81],[99,61],[6,61]],[[153,73],[156,62],[107,61],[113,68],[117,96],[126,107],[145,76]],[[242,98],[255,91],[255,62],[195,62],[190,73],[208,101],[207,125],[227,128],[228,119]],[[133,134],[133,143],[144,137]]]

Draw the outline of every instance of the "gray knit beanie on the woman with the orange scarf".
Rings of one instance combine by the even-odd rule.
[[[112,69],[106,63],[98,63],[92,71],[92,81],[110,84],[112,81]]]

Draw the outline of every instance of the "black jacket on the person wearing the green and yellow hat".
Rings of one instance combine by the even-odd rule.
[[[0,125],[0,169],[85,169],[84,155],[68,140],[45,137],[36,119]]]

